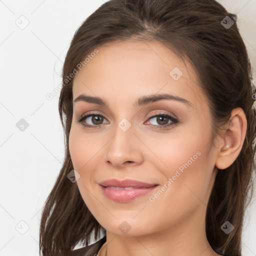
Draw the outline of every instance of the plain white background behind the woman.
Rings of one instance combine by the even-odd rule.
[[[238,27],[255,69],[256,0],[219,2],[238,13]],[[59,93],[51,100],[46,94],[61,83],[61,67],[75,30],[102,3],[0,0],[0,256],[39,254],[42,205],[64,156]],[[16,25],[20,19],[22,24],[29,22],[24,29]],[[16,127],[21,118],[28,123],[24,131]],[[254,194],[246,210],[243,256],[256,255],[255,212]]]

